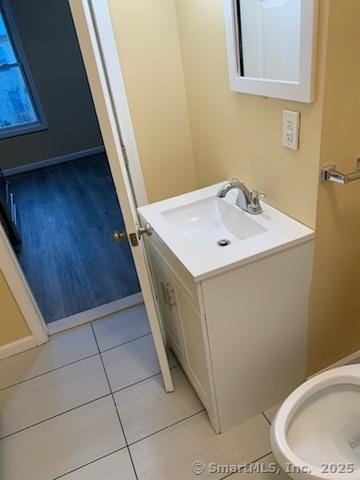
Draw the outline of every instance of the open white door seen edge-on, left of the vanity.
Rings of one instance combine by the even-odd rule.
[[[124,134],[126,133],[128,138],[133,132],[129,117],[125,118],[128,106],[107,1],[70,0],[69,3],[149,317],[165,390],[170,392],[174,390],[174,387],[153,294],[145,247],[139,235],[140,225],[128,168],[130,171],[132,170],[127,167],[124,157],[124,154],[126,155],[124,152],[125,142],[123,142]],[[135,167],[132,166],[132,168]],[[137,200],[139,201],[139,198]]]

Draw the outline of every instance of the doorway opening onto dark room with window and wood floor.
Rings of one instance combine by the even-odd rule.
[[[140,286],[112,239],[125,227],[68,2],[0,4],[1,221],[58,331],[140,303]]]

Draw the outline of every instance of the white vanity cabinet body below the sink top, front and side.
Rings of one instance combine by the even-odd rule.
[[[313,241],[200,282],[156,233],[147,250],[165,336],[216,432],[305,380]]]

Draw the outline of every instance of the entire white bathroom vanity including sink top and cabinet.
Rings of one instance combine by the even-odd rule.
[[[164,335],[216,432],[305,380],[314,246],[305,225],[266,203],[246,213],[221,185],[139,208]]]

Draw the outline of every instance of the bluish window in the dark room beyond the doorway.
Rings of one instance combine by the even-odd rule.
[[[0,138],[45,128],[9,8],[0,0]]]

